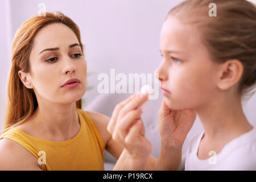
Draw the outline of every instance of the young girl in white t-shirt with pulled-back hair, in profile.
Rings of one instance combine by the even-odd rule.
[[[212,2],[217,16],[209,16]],[[256,170],[256,130],[241,104],[256,82],[255,5],[244,0],[184,1],[166,17],[160,52],[163,61],[156,73],[164,95],[159,111],[162,143],[174,146],[180,139],[174,136],[175,126],[180,123],[174,125],[170,118],[192,108],[204,131],[189,144],[185,170]],[[160,116],[163,111],[166,114]],[[125,146],[120,128],[129,130],[118,120],[108,126]],[[163,156],[170,160],[170,154]]]

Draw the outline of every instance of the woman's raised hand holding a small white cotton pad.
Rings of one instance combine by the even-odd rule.
[[[120,102],[112,113],[107,127],[112,138],[125,148],[124,154],[135,160],[144,160],[152,151],[151,143],[144,136],[144,125],[139,108],[148,99],[147,94],[137,93]]]

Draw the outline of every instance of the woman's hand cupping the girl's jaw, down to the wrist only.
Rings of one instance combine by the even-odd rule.
[[[159,132],[162,145],[181,148],[196,119],[193,109],[172,110],[163,99],[159,110]]]

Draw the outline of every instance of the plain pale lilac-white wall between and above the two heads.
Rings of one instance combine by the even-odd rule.
[[[115,68],[117,73],[153,73],[159,59],[159,33],[164,16],[179,1],[168,0],[10,0],[12,38],[17,28],[38,13],[39,3],[46,11],[61,11],[80,27],[88,63],[86,101],[96,95],[97,75]],[[176,2],[176,3],[175,3]]]

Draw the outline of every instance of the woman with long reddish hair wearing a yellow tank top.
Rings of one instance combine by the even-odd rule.
[[[109,117],[81,110],[85,90],[86,61],[77,25],[61,13],[24,22],[11,49],[0,169],[102,170],[105,149],[116,159],[122,154],[115,169],[158,166],[146,139],[140,143],[147,143],[143,150],[123,150],[106,130]],[[139,97],[141,104],[146,99]],[[140,118],[141,112],[132,115]],[[142,127],[131,127],[131,139],[140,137],[137,129]],[[134,162],[139,152],[148,155]]]

